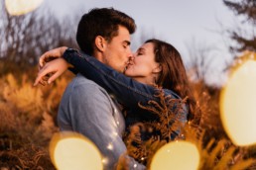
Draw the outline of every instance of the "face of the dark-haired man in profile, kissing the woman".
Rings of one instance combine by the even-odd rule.
[[[129,31],[119,26],[118,35],[111,42],[106,43],[107,46],[103,52],[104,63],[118,72],[123,72],[129,58],[132,57],[130,39]]]

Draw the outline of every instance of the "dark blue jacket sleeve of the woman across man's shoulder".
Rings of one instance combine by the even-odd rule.
[[[64,52],[64,59],[74,66],[74,72],[80,72],[108,93],[114,94],[126,107],[138,107],[138,102],[146,104],[150,100],[159,102],[159,98],[154,96],[156,88],[118,73],[92,56],[68,48]]]

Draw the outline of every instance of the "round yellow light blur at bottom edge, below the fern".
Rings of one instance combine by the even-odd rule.
[[[199,165],[197,147],[188,141],[173,141],[162,146],[154,155],[151,170],[195,170]]]

